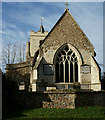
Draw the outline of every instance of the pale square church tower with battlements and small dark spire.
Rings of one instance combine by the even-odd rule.
[[[27,42],[26,48],[26,60],[34,57],[34,54],[39,50],[39,45],[47,36],[47,34],[48,31],[45,31],[42,23],[40,29],[37,32],[30,31],[30,42]]]

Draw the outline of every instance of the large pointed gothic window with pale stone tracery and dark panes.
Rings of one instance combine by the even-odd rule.
[[[75,53],[66,45],[56,57],[56,82],[78,82],[78,60]]]

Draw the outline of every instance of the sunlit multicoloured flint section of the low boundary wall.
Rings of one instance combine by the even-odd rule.
[[[72,93],[49,93],[51,102],[43,102],[44,108],[75,108],[76,94]]]

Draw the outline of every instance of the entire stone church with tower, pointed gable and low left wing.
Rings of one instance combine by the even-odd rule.
[[[30,31],[26,62],[7,64],[6,72],[20,90],[73,89],[101,90],[100,67],[94,46],[66,7],[50,32],[41,24]]]

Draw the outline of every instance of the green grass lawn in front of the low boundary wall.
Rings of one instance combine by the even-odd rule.
[[[28,120],[28,119],[45,118],[81,118],[82,120],[105,120],[105,107],[79,107],[75,109],[60,109],[60,108],[36,108],[13,112],[5,115],[3,120]],[[35,120],[36,120],[35,119]],[[60,119],[61,120],[61,119]],[[72,119],[70,119],[72,120]],[[73,119],[75,120],[75,119]],[[88,119],[87,119],[88,120]]]

